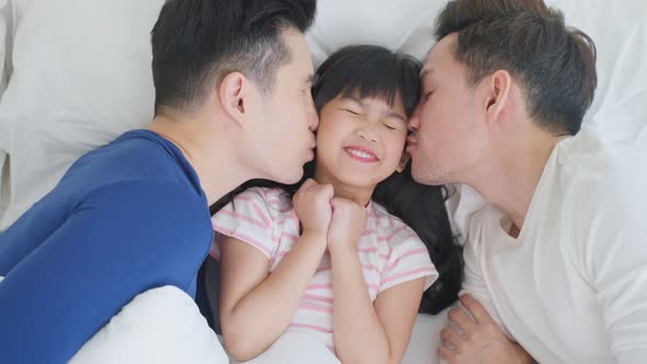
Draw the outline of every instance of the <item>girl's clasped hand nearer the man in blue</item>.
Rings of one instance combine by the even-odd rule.
[[[333,196],[332,185],[319,184],[308,179],[298,189],[293,198],[294,211],[300,220],[303,232],[328,235],[332,218],[330,200]]]

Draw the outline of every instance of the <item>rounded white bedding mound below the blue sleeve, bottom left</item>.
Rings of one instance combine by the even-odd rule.
[[[135,297],[70,363],[223,364],[228,360],[193,299],[166,286]]]

